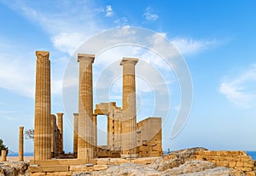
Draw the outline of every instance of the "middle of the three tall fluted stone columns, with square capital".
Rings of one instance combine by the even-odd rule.
[[[78,159],[93,158],[92,63],[95,55],[79,54],[79,146]]]

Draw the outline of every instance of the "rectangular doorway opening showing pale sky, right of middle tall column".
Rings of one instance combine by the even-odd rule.
[[[108,116],[97,116],[97,145],[108,145]]]

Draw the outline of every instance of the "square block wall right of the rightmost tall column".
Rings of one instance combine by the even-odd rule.
[[[139,157],[162,156],[162,125],[160,117],[148,117],[137,123]]]

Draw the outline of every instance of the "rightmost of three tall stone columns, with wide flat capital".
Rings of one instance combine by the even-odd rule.
[[[122,112],[122,147],[123,156],[137,157],[137,112],[135,65],[137,59],[123,58],[123,112]]]

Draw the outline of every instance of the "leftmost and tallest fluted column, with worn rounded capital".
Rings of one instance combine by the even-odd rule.
[[[49,52],[36,51],[36,97],[34,124],[34,158],[48,160],[50,153],[50,62]]]

